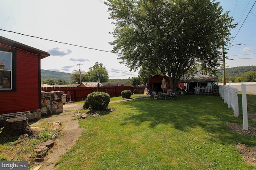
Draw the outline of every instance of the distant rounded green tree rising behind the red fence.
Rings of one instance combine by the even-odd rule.
[[[96,62],[94,66],[88,69],[88,74],[91,82],[97,82],[98,78],[100,82],[108,82],[109,75],[102,63]]]

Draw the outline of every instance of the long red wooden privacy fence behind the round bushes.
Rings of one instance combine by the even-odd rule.
[[[110,97],[122,96],[121,92],[124,90],[131,90],[134,94],[143,94],[145,86],[132,87],[132,86],[112,86],[100,87],[100,92],[105,92],[110,95]],[[92,92],[97,92],[98,87],[41,87],[41,91],[52,92],[52,91],[62,91],[66,94],[66,102],[78,102],[86,100],[88,94]]]

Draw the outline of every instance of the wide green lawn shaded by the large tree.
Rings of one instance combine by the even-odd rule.
[[[236,145],[256,146],[256,137],[228,131],[226,122],[242,119],[220,96],[140,98],[109,107],[107,115],[80,119],[82,136],[57,170],[254,169]]]

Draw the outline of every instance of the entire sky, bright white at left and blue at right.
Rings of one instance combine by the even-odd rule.
[[[41,68],[45,70],[71,73],[82,64],[81,70],[88,71],[98,62],[107,68],[111,79],[137,76],[138,72],[129,72],[124,64],[118,63],[118,55],[105,52],[112,50],[108,42],[114,40],[109,34],[114,25],[108,19],[108,6],[102,2],[104,0],[0,0],[0,29],[92,49],[1,30],[0,35],[49,52],[51,56],[41,60]],[[232,30],[231,36],[235,38],[227,54],[232,60],[226,61],[226,65],[256,65],[256,5],[252,8],[255,0],[215,2],[220,2],[224,11],[230,10],[233,23],[238,23]],[[243,45],[236,45],[239,43]]]

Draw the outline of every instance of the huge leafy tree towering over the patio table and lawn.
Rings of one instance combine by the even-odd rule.
[[[215,73],[227,45],[232,18],[212,0],[108,0],[113,52],[130,70],[159,70],[176,89],[201,64]]]

